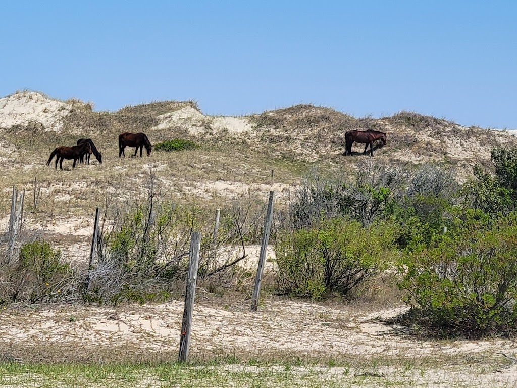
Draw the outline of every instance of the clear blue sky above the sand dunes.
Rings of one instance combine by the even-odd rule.
[[[0,95],[97,110],[195,99],[206,114],[313,103],[517,129],[517,2],[11,1]]]

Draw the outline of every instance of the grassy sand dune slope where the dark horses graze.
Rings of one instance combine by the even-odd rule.
[[[41,93],[21,92],[0,98],[0,228],[10,211],[12,186],[34,195],[41,187],[37,211],[32,201],[25,225],[52,237],[70,250],[87,246],[95,206],[119,206],[146,194],[150,171],[171,199],[207,208],[225,208],[235,200],[265,200],[269,190],[277,199],[296,185],[315,163],[327,170],[352,171],[366,155],[343,156],[344,133],[349,129],[387,133],[387,145],[374,151],[374,161],[449,166],[459,176],[476,164],[490,165],[494,146],[517,146],[508,132],[464,127],[413,112],[389,117],[355,118],[336,110],[296,105],[243,117],[209,116],[193,101],[158,101],[99,112],[92,103],[59,101]],[[145,132],[151,143],[176,137],[202,145],[192,151],[151,156],[118,157],[118,134]],[[64,171],[45,166],[58,145],[92,138],[102,152],[99,165]],[[353,150],[362,152],[362,145]],[[145,155],[145,153],[144,153]],[[274,169],[271,180],[270,171]],[[211,211],[210,211],[211,213]]]

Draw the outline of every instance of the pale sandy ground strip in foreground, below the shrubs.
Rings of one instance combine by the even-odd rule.
[[[403,308],[361,312],[273,299],[265,300],[259,311],[253,313],[248,301],[218,304],[206,300],[202,290],[198,293],[202,296],[194,309],[192,357],[235,354],[242,360],[361,360],[370,366],[353,368],[375,371],[387,381],[417,379],[421,384],[432,383],[428,386],[456,386],[458,382],[465,386],[517,384],[517,367],[508,365],[505,357],[497,354],[515,354],[514,341],[416,340],[397,334],[393,327],[376,320],[399,314]],[[183,301],[179,300],[143,307],[67,306],[4,312],[0,314],[0,349],[7,355],[15,354],[12,349],[20,347],[87,354],[99,349],[119,349],[124,344],[127,352],[174,354],[179,346],[182,316]],[[485,365],[483,359],[488,357],[495,357],[499,366]],[[402,373],[403,360],[413,366]],[[427,364],[420,364],[422,360],[427,360]],[[379,365],[375,366],[376,363]],[[303,370],[299,368],[300,373]],[[334,372],[345,375],[344,368],[335,368]]]

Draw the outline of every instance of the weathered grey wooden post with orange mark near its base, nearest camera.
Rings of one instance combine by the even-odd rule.
[[[179,337],[178,361],[189,361],[189,345],[192,327],[192,315],[194,312],[195,286],[197,281],[197,267],[201,248],[201,233],[192,232],[190,238],[189,269],[187,275],[187,290],[185,292],[185,309],[183,321],[181,321],[181,334]]]

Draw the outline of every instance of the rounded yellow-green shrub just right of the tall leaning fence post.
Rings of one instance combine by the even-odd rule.
[[[275,245],[279,289],[315,300],[329,293],[347,295],[390,263],[395,238],[389,225],[363,228],[343,218],[280,233]]]

